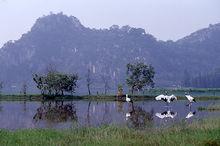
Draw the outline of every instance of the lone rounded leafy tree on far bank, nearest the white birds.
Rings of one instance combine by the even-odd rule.
[[[145,86],[154,86],[154,68],[142,62],[127,64],[127,85],[130,87],[132,94],[134,91],[142,90]]]

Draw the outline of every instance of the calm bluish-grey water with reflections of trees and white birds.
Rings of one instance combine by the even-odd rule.
[[[149,100],[137,101],[133,105],[116,101],[1,101],[0,129],[68,129],[109,124],[134,128],[166,127],[182,121],[192,122],[220,116],[219,111],[197,110],[199,106],[220,104],[218,100],[198,101],[191,108],[186,104],[187,101],[183,100],[175,101],[170,106],[166,106],[166,103],[161,101]]]

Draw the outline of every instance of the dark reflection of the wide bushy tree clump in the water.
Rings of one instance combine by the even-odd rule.
[[[77,121],[76,108],[74,104],[63,104],[62,101],[43,102],[42,105],[37,108],[37,113],[33,119],[35,122],[41,120],[50,122]]]

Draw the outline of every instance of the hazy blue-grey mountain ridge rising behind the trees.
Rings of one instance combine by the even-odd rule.
[[[78,73],[78,91],[85,93],[90,69],[93,92],[103,92],[103,77],[111,90],[116,90],[119,83],[125,84],[126,64],[144,61],[155,67],[156,86],[181,86],[184,72],[196,76],[219,67],[219,36],[220,24],[216,24],[176,42],[164,42],[142,28],[113,25],[91,29],[76,17],[50,14],[37,19],[19,40],[0,49],[0,80],[7,92],[18,92],[24,82],[35,92],[32,74],[54,66],[62,72]]]

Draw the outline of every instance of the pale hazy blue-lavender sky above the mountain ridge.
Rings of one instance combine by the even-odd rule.
[[[50,12],[75,16],[90,28],[130,25],[175,41],[220,23],[220,0],[0,0],[0,47]]]

